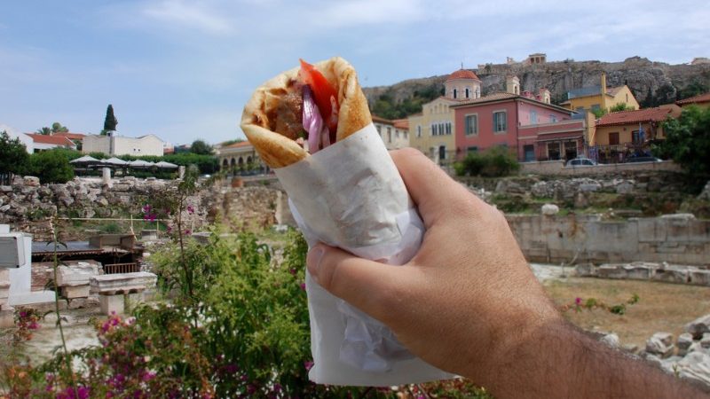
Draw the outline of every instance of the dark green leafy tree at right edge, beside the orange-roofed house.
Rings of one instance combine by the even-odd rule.
[[[710,178],[710,108],[683,108],[678,119],[663,124],[666,140],[656,147],[657,155],[671,158],[698,181]]]

